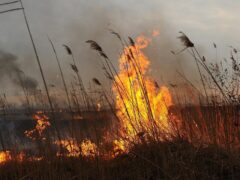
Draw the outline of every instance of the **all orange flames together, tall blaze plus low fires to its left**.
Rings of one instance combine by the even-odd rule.
[[[154,31],[153,36],[159,35]],[[109,137],[111,152],[109,157],[114,158],[122,153],[129,152],[129,145],[148,140],[148,138],[160,138],[160,134],[171,133],[169,123],[169,106],[172,105],[172,97],[167,87],[159,87],[148,75],[150,60],[143,53],[143,49],[151,43],[151,38],[139,36],[131,45],[124,48],[119,59],[119,74],[114,78],[113,91],[116,95],[117,117],[120,122],[120,136],[116,139]],[[97,111],[101,111],[102,104],[96,104]],[[45,140],[44,132],[50,127],[49,117],[42,111],[33,115],[36,126],[32,130],[25,131],[25,135],[33,140]],[[160,133],[159,133],[160,132]],[[110,141],[109,141],[110,140]],[[87,157],[99,156],[99,149],[89,139],[81,142],[73,138],[67,138],[51,143],[61,147],[56,156],[63,157]],[[64,151],[62,151],[64,150]],[[109,153],[109,152],[107,152]],[[24,153],[13,154],[10,151],[0,152],[0,164],[7,161],[40,161],[43,157],[26,158]]]

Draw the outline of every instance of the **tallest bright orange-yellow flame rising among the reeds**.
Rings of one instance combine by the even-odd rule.
[[[171,94],[167,87],[159,87],[147,75],[150,60],[142,49],[150,42],[150,38],[139,36],[135,44],[125,47],[119,59],[120,72],[115,76],[117,116],[123,136],[130,139],[153,135],[156,131],[170,132]],[[123,148],[120,143],[119,149]]]

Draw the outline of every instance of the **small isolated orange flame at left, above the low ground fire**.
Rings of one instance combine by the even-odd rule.
[[[36,139],[36,137],[42,137],[43,132],[51,124],[49,122],[49,118],[42,111],[36,112],[36,114],[33,115],[33,119],[37,123],[35,129],[27,130],[24,134],[31,139]]]

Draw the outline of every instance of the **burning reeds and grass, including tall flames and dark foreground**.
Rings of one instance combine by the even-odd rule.
[[[87,43],[100,55],[114,97],[100,80],[93,78],[103,99],[101,103],[99,99],[91,99],[83,86],[73,52],[64,45],[72,56],[71,68],[78,83],[76,88],[71,84],[72,91],[69,91],[59,64],[72,120],[68,133],[62,133],[57,126],[56,115],[60,113],[57,107],[54,111],[35,113],[36,126],[26,130],[25,135],[36,143],[32,151],[38,153],[21,155],[16,149],[6,150],[2,141],[2,179],[238,179],[240,131],[236,92],[231,94],[226,90],[226,85],[214,74],[216,69],[210,68],[190,39],[181,32],[180,40],[185,47],[179,53],[186,50],[193,56],[203,89],[190,83],[188,96],[201,101],[186,106],[186,103],[175,102],[181,97],[173,96],[173,90],[167,85],[159,86],[148,73],[150,60],[143,49],[151,38],[139,36],[134,41],[129,37],[127,43],[118,33],[112,34],[123,45],[119,71],[97,42]],[[157,35],[154,31],[153,36]],[[56,52],[55,55],[57,57]],[[234,77],[237,77],[237,60],[232,59]],[[211,86],[207,88],[207,84]],[[205,96],[201,92],[205,92]],[[212,95],[218,98],[210,101]],[[87,118],[86,109],[99,113],[104,107],[112,114],[111,128],[104,129],[102,136],[98,135],[97,128],[93,128],[90,135],[83,135],[74,121]],[[50,129],[51,126],[54,128]]]

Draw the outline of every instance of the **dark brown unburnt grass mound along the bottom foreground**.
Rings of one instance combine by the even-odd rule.
[[[50,158],[8,162],[1,179],[238,179],[239,154],[181,139],[134,146],[111,160]],[[13,175],[14,172],[14,175]]]

